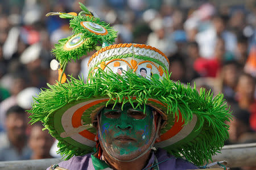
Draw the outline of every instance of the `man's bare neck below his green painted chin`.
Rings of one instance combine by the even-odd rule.
[[[116,170],[141,170],[145,168],[145,166],[148,163],[148,160],[150,159],[150,151],[147,152],[147,154],[143,155],[142,157],[139,157],[138,159],[135,159],[133,161],[118,161],[115,160],[113,157],[103,153],[102,156],[103,160],[106,161],[113,169]]]

